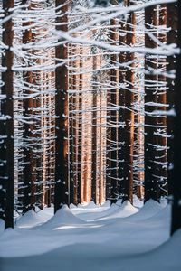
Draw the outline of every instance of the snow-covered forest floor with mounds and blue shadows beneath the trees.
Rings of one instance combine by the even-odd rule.
[[[181,230],[169,228],[170,206],[156,201],[29,211],[15,229],[0,221],[0,270],[180,271]]]

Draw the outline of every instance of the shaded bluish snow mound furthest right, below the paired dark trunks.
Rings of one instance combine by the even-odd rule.
[[[146,220],[157,214],[163,207],[154,200],[149,200],[143,205],[143,207],[138,211],[137,214],[132,216],[130,219]]]

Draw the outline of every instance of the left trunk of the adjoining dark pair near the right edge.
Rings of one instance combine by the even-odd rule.
[[[145,47],[157,48],[147,32],[156,32],[157,6],[150,6],[145,10]],[[145,201],[153,199],[159,201],[159,185],[156,173],[157,155],[157,117],[153,115],[157,110],[157,57],[151,54],[145,56]]]

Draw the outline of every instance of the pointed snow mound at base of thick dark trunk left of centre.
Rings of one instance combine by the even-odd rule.
[[[41,226],[41,229],[56,229],[62,225],[79,225],[85,223],[84,220],[74,216],[67,205],[63,205],[60,210],[57,210],[52,219]]]

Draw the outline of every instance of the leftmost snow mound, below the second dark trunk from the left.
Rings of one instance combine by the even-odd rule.
[[[33,210],[29,210],[24,213],[22,217],[16,220],[16,226],[18,228],[32,228],[34,226],[37,226],[41,222],[41,217]]]

